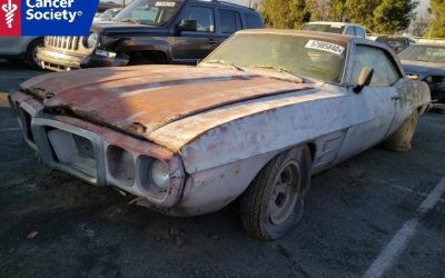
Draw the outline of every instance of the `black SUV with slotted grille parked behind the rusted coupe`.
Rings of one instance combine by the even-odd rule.
[[[47,37],[39,48],[50,70],[146,63],[196,63],[230,34],[263,28],[247,7],[221,1],[135,0],[89,37]]]

